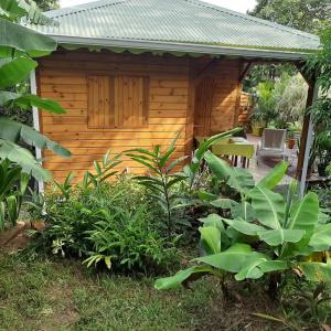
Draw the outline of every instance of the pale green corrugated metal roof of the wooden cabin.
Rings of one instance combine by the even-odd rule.
[[[197,0],[102,0],[46,13],[51,35],[312,51],[319,38]]]

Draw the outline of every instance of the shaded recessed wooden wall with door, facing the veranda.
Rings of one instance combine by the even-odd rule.
[[[201,58],[196,62],[195,71],[200,72],[211,60]],[[203,107],[211,107],[212,109],[205,111],[205,116],[209,117],[211,113],[211,118],[201,119],[202,114],[195,117],[195,132],[201,135],[203,132],[210,135],[215,135],[222,131],[226,131],[236,125],[238,113],[238,97],[241,96],[242,86],[238,84],[241,62],[239,60],[218,60],[217,65],[213,68],[212,75],[209,75],[204,81],[197,86],[196,95],[205,95],[203,88],[205,88],[205,83],[213,79],[213,93],[212,93],[212,105],[206,105],[207,98],[204,99]],[[199,90],[199,89],[202,90]],[[209,93],[210,94],[210,93]],[[202,107],[197,103],[195,107]],[[195,109],[195,114],[200,114],[199,109]],[[203,132],[199,129],[201,122],[204,122]],[[205,126],[210,125],[210,128]]]

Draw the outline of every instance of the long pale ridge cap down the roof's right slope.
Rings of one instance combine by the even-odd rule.
[[[241,12],[237,12],[237,11],[234,11],[234,10],[221,7],[221,6],[216,6],[216,4],[213,4],[213,3],[210,3],[210,2],[205,2],[205,1],[201,1],[201,0],[182,0],[182,1],[192,2],[192,3],[195,3],[195,4],[204,7],[204,8],[211,8],[211,9],[227,13],[227,14],[232,14],[232,15],[235,15],[235,17],[248,20],[248,21],[253,21],[253,22],[258,22],[258,23],[265,24],[267,26],[276,28],[276,29],[279,29],[279,30],[282,30],[282,31],[286,31],[286,32],[292,32],[292,33],[296,33],[296,34],[305,36],[305,38],[309,38],[311,40],[319,39],[317,35],[314,35],[312,33],[308,33],[308,32],[305,32],[305,31],[301,31],[301,30],[298,30],[298,29],[293,29],[293,28],[290,28],[290,26],[278,24],[276,22],[271,22],[271,21],[268,21],[268,20],[255,18],[255,17],[252,17],[252,15],[248,15],[248,14],[244,14],[244,13],[241,13]]]

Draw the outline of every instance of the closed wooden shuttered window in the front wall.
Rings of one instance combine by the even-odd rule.
[[[88,127],[136,128],[148,125],[149,78],[88,76]]]

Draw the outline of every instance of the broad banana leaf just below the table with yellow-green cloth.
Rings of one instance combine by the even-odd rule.
[[[245,169],[232,168],[227,162],[206,151],[204,159],[213,174],[221,181],[225,181],[238,192],[245,192],[254,186],[253,175]]]

